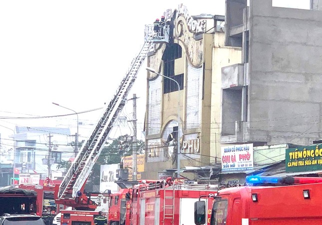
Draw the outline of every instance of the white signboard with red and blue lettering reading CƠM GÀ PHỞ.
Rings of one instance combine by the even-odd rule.
[[[221,170],[222,172],[253,170],[253,158],[253,144],[221,147]]]

